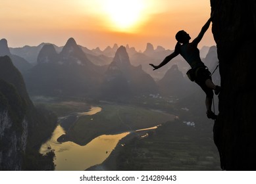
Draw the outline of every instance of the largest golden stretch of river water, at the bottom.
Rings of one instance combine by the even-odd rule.
[[[117,135],[101,135],[93,139],[85,146],[77,145],[73,142],[58,143],[57,138],[63,135],[64,130],[57,126],[53,137],[47,143],[42,145],[40,152],[45,154],[49,147],[55,150],[55,170],[78,171],[86,170],[95,164],[101,164],[115,149],[118,141],[129,133],[120,133]]]

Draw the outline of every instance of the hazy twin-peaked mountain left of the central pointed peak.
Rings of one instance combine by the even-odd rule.
[[[53,45],[44,45],[25,80],[34,95],[94,95],[103,70],[70,38],[59,54]]]

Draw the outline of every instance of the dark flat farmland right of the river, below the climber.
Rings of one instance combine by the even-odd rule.
[[[147,137],[128,135],[111,155],[88,170],[220,170],[211,127],[202,132],[176,120],[148,131]]]

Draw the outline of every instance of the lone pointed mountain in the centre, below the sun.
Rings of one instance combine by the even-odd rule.
[[[146,74],[141,66],[132,66],[124,46],[118,48],[113,62],[109,64],[103,80],[102,91],[105,97],[158,93],[153,78]],[[114,93],[115,96],[113,96]]]

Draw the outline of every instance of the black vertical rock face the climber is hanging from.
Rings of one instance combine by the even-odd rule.
[[[223,170],[256,170],[256,1],[211,0],[222,91],[214,127]]]

